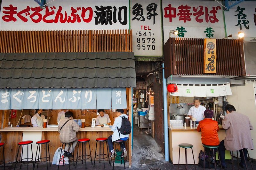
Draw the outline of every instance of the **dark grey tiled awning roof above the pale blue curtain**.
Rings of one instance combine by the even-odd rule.
[[[0,53],[0,88],[136,87],[133,52]]]

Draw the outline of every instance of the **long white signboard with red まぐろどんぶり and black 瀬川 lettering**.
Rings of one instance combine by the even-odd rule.
[[[129,29],[128,10],[127,0],[2,0],[0,30]]]

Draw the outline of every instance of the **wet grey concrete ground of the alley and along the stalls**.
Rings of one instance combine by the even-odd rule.
[[[132,153],[132,168],[129,168],[129,162],[125,163],[126,169],[131,170],[177,170],[178,165],[172,165],[169,163],[169,161],[165,161],[163,152],[161,151],[160,147],[156,144],[156,141],[151,137],[148,136],[147,130],[139,130],[137,125],[134,125],[133,128],[134,132],[134,139],[133,139],[133,153]],[[195,158],[197,159],[197,158]],[[239,169],[237,167],[237,161],[235,161],[235,167],[234,169]],[[228,169],[232,169],[232,164],[230,163],[230,160],[226,160],[226,165],[228,166]],[[256,161],[252,160],[253,169],[256,170]],[[247,164],[248,169],[252,169],[250,166],[250,163]],[[66,170],[68,169],[68,165],[60,166],[60,170]],[[105,170],[111,170],[113,167],[108,164],[108,161],[105,162]],[[12,164],[6,164],[6,170],[13,170],[14,163]],[[57,170],[58,166],[52,165],[51,167],[48,167],[49,170]],[[184,165],[181,166],[181,168],[185,168]],[[194,165],[189,165],[189,169],[194,169]],[[0,166],[0,169],[3,168]],[[20,169],[20,168],[16,168]],[[22,170],[26,170],[26,166],[22,166]],[[29,170],[33,169],[32,164],[28,168]],[[36,168],[35,168],[36,169]],[[46,169],[46,164],[39,165],[38,170]],[[75,170],[75,167],[73,164],[71,164],[71,169]],[[77,163],[77,170],[85,169],[85,164],[81,164],[81,162]],[[95,168],[93,168],[93,165],[90,164],[90,162],[87,162],[87,169],[91,170],[99,170],[103,169],[103,162],[95,162]],[[115,168],[116,170],[123,170],[124,165],[116,164]],[[197,170],[202,170],[203,168],[200,168],[196,165]],[[217,169],[220,169],[220,167],[217,166]],[[243,169],[243,168],[240,168]],[[246,169],[246,168],[244,168]]]

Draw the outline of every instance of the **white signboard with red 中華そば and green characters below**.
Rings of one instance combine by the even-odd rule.
[[[179,31],[177,38],[225,37],[222,7],[216,1],[163,0],[163,25],[164,43],[170,30]]]

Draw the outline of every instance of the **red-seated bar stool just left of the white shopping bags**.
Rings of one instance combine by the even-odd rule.
[[[43,162],[46,162],[46,169],[48,170],[48,162],[47,162],[48,160],[49,160],[49,164],[51,166],[49,142],[50,142],[50,140],[40,140],[40,141],[36,142],[36,144],[37,144],[36,156],[37,156],[37,150],[38,150],[38,146],[39,146],[38,158],[37,159],[35,158],[35,166],[36,166],[36,163],[37,163],[37,168],[38,168],[38,164],[42,163],[41,159],[44,159],[44,158],[46,159],[45,161],[43,161]],[[44,158],[39,158],[40,157],[40,151],[41,151],[41,144],[45,144],[45,154],[46,154],[46,157],[44,157]],[[48,154],[49,154],[48,156],[47,156],[47,145],[48,145]],[[35,166],[34,166],[34,169],[35,169]]]

